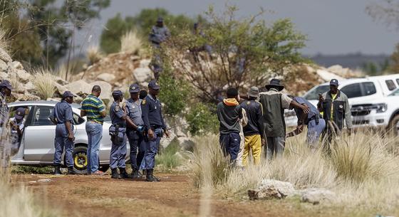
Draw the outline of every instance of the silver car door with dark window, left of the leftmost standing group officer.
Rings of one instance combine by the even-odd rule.
[[[56,125],[48,119],[53,106],[36,105],[24,132],[24,159],[32,162],[52,162]]]

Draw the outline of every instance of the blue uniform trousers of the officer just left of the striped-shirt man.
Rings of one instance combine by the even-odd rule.
[[[65,147],[66,166],[72,167],[74,144],[73,141],[68,139],[68,132],[66,130],[65,124],[58,124],[56,127],[56,139],[54,139],[54,147],[56,150],[54,152],[53,164],[56,166],[61,165],[61,156]]]

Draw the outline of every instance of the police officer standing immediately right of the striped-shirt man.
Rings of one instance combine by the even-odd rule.
[[[135,125],[128,115],[130,115],[126,107],[130,107],[130,102],[123,103],[123,93],[120,90],[113,91],[113,104],[110,107],[110,118],[112,125],[110,126],[109,132],[112,140],[112,147],[110,152],[110,168],[112,171],[112,179],[125,179],[130,178],[126,172],[125,156],[126,156],[126,123],[133,130],[137,130],[138,126]],[[119,173],[117,169],[119,168]]]

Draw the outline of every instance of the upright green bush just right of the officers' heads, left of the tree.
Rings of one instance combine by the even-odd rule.
[[[185,111],[190,94],[190,86],[184,80],[176,79],[170,68],[164,66],[160,79],[160,100],[165,104],[162,108],[167,115],[179,115]]]

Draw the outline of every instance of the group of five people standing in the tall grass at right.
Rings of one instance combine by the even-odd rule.
[[[247,95],[239,95],[236,88],[229,88],[227,98],[217,105],[219,143],[232,163],[247,166],[252,153],[254,164],[258,165],[264,145],[266,159],[281,155],[286,138],[303,132],[305,125],[308,144],[315,146],[321,134],[325,134],[327,150],[333,138],[341,134],[344,121],[351,132],[351,107],[348,97],[338,90],[338,80],[330,81],[330,90],[320,95],[317,107],[303,97],[281,92],[284,86],[278,79],[272,79],[265,88],[265,92],[259,92],[257,87],[252,87]],[[294,109],[298,117],[298,126],[288,133],[285,109]],[[240,133],[244,134],[244,141]]]

